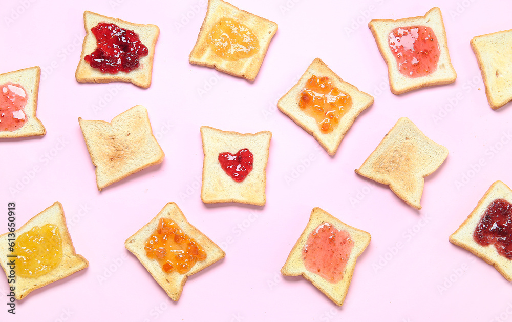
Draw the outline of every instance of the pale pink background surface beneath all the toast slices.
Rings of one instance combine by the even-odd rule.
[[[0,233],[7,231],[8,202],[16,202],[20,227],[58,200],[75,248],[90,266],[17,301],[15,317],[6,313],[8,284],[0,278],[0,320],[511,318],[509,283],[492,266],[452,245],[448,236],[495,180],[512,185],[512,108],[490,109],[470,47],[473,36],[511,28],[512,4],[232,3],[279,25],[253,83],[188,63],[206,11],[203,1],[3,3],[0,72],[42,68],[37,115],[47,134],[0,143]],[[423,15],[436,5],[444,15],[457,81],[393,95],[367,23]],[[84,10],[160,27],[151,88],[75,81]],[[276,101],[316,57],[375,97],[334,157],[276,110]],[[77,118],[110,121],[137,104],[148,109],[165,159],[100,193]],[[388,187],[354,173],[402,116],[450,151],[426,178],[420,211]],[[272,131],[264,207],[201,202],[202,125],[242,133]],[[39,169],[35,175],[34,167]],[[32,178],[12,194],[18,180],[27,182],[25,176]],[[124,240],[170,201],[226,251],[223,260],[188,279],[178,303],[124,248]],[[280,274],[315,206],[372,235],[342,308],[302,277]]]

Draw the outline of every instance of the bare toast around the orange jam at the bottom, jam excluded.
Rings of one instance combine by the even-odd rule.
[[[146,250],[144,249],[146,242],[158,228],[161,218],[172,219],[173,222],[180,227],[181,231],[195,239],[206,252],[206,258],[204,260],[197,261],[196,264],[185,274],[180,274],[177,271],[166,273],[162,270],[157,259],[149,258],[146,255]],[[140,263],[148,272],[150,272],[153,278],[158,284],[160,284],[173,301],[180,299],[183,286],[185,285],[188,276],[207,268],[225,256],[224,251],[220,249],[219,246],[212,242],[196,227],[188,223],[185,215],[175,203],[168,203],[165,205],[155,218],[139,229],[139,231],[133,234],[133,236],[126,239],[124,246],[127,250],[132,252],[137,259],[139,259]]]

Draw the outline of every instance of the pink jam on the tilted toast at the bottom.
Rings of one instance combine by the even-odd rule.
[[[318,226],[308,237],[303,249],[306,269],[330,283],[343,279],[354,241],[345,230],[329,223]]]

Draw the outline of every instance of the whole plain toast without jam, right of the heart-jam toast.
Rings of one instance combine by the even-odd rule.
[[[448,150],[402,117],[356,173],[390,189],[408,205],[421,209],[424,177],[441,166]]]

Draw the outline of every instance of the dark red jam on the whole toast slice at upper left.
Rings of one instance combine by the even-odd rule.
[[[97,48],[83,59],[102,73],[130,72],[139,67],[139,58],[147,56],[147,47],[132,30],[109,23],[91,28],[96,36]]]

